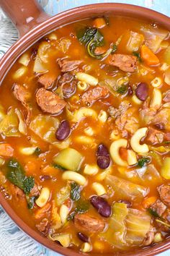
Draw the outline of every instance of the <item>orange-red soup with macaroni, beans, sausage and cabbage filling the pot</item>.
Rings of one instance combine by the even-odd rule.
[[[113,253],[170,232],[169,31],[128,17],[60,27],[0,88],[0,189],[63,247]]]

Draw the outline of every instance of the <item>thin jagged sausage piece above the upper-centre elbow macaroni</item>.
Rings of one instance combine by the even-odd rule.
[[[68,59],[59,59],[58,65],[61,72],[71,72],[79,67],[82,61],[69,61]]]

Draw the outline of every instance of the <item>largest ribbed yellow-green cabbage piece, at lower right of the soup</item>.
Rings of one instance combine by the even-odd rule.
[[[150,229],[151,216],[137,209],[127,208],[122,202],[112,205],[108,229],[100,236],[114,247],[128,249],[142,244]]]

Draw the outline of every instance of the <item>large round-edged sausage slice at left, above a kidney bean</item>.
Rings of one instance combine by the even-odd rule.
[[[66,106],[66,102],[63,101],[58,95],[45,90],[45,88],[40,88],[36,93],[36,100],[38,106],[42,111],[50,114],[58,114]]]

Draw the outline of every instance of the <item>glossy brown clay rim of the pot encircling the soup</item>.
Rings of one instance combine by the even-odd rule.
[[[27,48],[30,48],[33,43],[42,38],[42,36],[50,33],[52,30],[55,30],[58,27],[63,25],[68,25],[68,23],[75,22],[78,20],[84,20],[89,17],[97,17],[103,15],[119,15],[126,17],[135,17],[139,20],[145,20],[148,22],[157,22],[159,25],[170,30],[170,19],[169,17],[154,12],[152,10],[137,7],[128,4],[91,4],[84,7],[77,7],[75,9],[68,10],[61,14],[57,14],[54,17],[42,22],[40,25],[37,25],[34,29],[30,30],[29,33],[20,38],[17,43],[12,46],[9,51],[4,55],[0,61],[0,81],[2,82],[3,78],[6,75],[6,72],[9,71],[10,67],[14,61],[22,54]],[[1,83],[0,82],[0,83]],[[62,255],[70,256],[79,256],[81,252],[75,252],[71,249],[63,248],[59,244],[46,239],[45,236],[41,236],[37,231],[30,229],[22,219],[20,219],[14,210],[11,208],[9,203],[4,199],[3,195],[0,192],[0,202],[1,206],[4,208],[6,213],[12,218],[12,220],[17,223],[20,229],[25,233],[35,239],[40,244],[43,244],[45,247],[53,249],[55,252],[59,252]],[[163,252],[166,249],[170,248],[170,239],[164,240],[153,247],[146,247],[141,249],[136,249],[131,252],[117,252],[115,255],[156,255],[160,252]],[[99,255],[91,253],[91,256]],[[113,254],[103,254],[103,256],[109,256]]]

